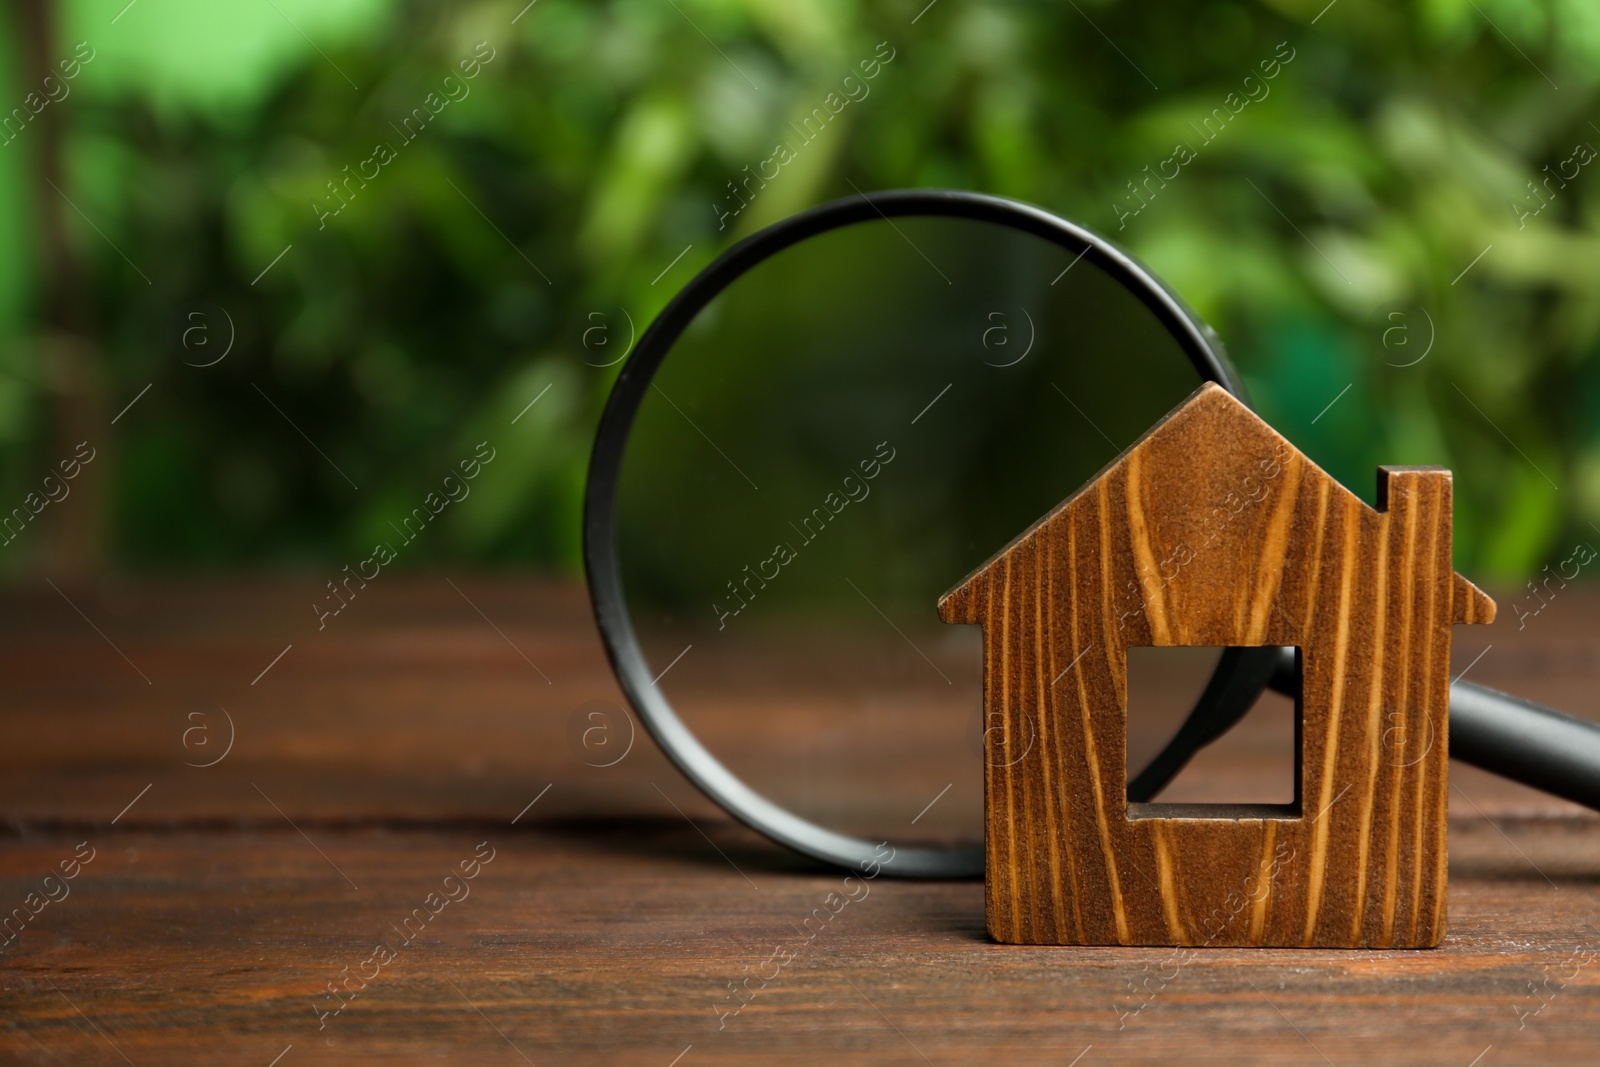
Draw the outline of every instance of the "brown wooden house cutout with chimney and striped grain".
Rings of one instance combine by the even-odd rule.
[[[1368,507],[1216,386],[946,593],[984,627],[989,931],[1013,944],[1430,947],[1445,931],[1450,472]],[[1288,806],[1126,803],[1126,649],[1293,645]]]

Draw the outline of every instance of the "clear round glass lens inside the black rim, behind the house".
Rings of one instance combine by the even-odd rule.
[[[643,390],[616,550],[654,686],[808,821],[982,840],[981,633],[934,605],[1200,384],[1080,253],[966,218],[824,230]]]

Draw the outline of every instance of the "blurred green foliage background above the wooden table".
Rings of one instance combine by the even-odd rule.
[[[590,315],[642,330],[739,235],[856,187],[947,186],[1133,251],[1357,491],[1379,462],[1453,467],[1469,574],[1600,536],[1600,168],[1530,187],[1600,146],[1600,6],[923,3],[64,0],[46,61],[96,58],[51,104],[61,192],[37,130],[0,147],[5,507],[59,459],[45,197],[74,205],[101,406],[152,384],[96,438],[115,565],[346,563],[490,440],[477,506],[406,561],[573,568],[616,373],[582,358]],[[32,90],[10,22],[5,109]],[[478,42],[470,94],[406,142]],[[726,182],[880,42],[870,96],[718,230]],[[1259,99],[1232,115],[1229,94]],[[379,142],[397,158],[318,222]],[[1194,158],[1136,198],[1179,144]],[[198,307],[237,330],[210,368],[179,341]]]

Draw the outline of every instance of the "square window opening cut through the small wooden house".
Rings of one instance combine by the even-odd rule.
[[[1128,649],[1130,782],[1178,733],[1224,651],[1214,646]],[[1195,752],[1150,803],[1130,803],[1128,817],[1293,819],[1301,814],[1299,781],[1299,694],[1291,699],[1266,689],[1232,729]]]

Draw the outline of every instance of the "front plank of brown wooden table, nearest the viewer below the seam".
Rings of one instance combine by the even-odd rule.
[[[1434,953],[1200,952],[997,945],[971,881],[878,880],[808,939],[789,923],[837,873],[701,822],[752,888],[661,808],[517,827],[307,827],[360,891],[286,825],[91,832],[99,856],[74,894],[0,966],[0,1062],[267,1067],[293,1046],[277,1067],[669,1067],[693,1046],[677,1067],[1066,1067],[1090,1045],[1078,1067],[1323,1064],[1318,1051],[1339,1067],[1467,1067],[1490,1045],[1478,1067],[1592,1061],[1592,822],[1512,822],[1514,843],[1482,821],[1458,833],[1454,931]],[[496,857],[472,896],[318,1017],[326,982],[392,941],[390,923],[485,838]],[[37,880],[78,840],[6,841],[0,883]],[[774,945],[795,960],[752,981],[723,1025],[728,984]]]

